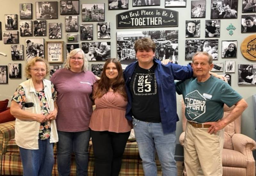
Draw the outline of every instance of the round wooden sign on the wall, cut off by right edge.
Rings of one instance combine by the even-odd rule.
[[[241,44],[241,52],[246,59],[256,61],[256,34],[244,39]]]

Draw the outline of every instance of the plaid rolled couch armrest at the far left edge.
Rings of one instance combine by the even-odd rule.
[[[14,139],[14,130],[15,121],[1,123],[0,124],[0,155],[6,152],[7,143],[11,139]]]

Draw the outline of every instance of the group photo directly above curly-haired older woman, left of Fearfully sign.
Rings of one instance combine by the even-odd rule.
[[[44,39],[26,39],[26,60],[44,58]]]

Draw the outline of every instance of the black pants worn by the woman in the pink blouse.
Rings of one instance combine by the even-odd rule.
[[[91,130],[96,176],[118,176],[129,132]]]

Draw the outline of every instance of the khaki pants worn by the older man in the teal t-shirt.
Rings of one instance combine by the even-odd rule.
[[[184,163],[188,176],[222,176],[224,129],[217,134],[209,134],[207,130],[187,122]]]

